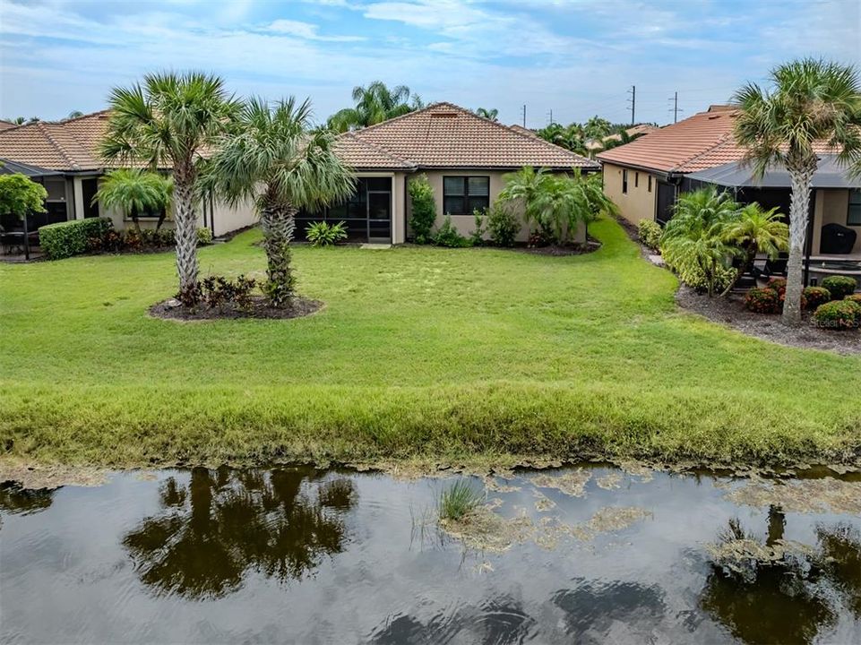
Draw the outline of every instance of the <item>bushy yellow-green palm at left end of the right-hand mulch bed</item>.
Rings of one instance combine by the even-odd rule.
[[[736,217],[738,204],[728,193],[710,187],[684,193],[675,209],[660,238],[661,254],[683,279],[685,275],[704,276],[712,297],[719,269],[727,268],[729,258],[736,253],[736,248],[725,241],[724,230]]]

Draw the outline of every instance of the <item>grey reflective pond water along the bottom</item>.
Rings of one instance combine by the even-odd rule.
[[[810,474],[467,477],[487,504],[447,530],[437,500],[460,476],[5,484],[0,641],[861,642],[861,477]],[[731,520],[736,572],[714,563]],[[788,555],[757,567],[757,548]]]

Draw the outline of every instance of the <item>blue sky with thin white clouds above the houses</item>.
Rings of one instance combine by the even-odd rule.
[[[795,56],[861,64],[859,0],[0,0],[0,116],[60,118],[159,69],[238,94],[310,96],[323,120],[354,85],[496,107],[505,123],[599,114],[672,120],[725,102]]]

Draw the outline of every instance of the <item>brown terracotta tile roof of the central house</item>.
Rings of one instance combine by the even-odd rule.
[[[591,159],[452,103],[434,103],[349,136],[416,168],[598,168]]]

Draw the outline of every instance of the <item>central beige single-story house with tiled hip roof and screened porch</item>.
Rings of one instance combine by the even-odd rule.
[[[340,134],[336,154],[356,170],[357,191],[348,202],[321,212],[301,212],[297,236],[314,221],[344,221],[349,239],[400,244],[409,236],[408,185],[424,174],[433,186],[436,224],[446,214],[463,235],[475,228],[473,211],[494,202],[503,176],[524,166],[555,172],[597,172],[592,159],[534,134],[474,115],[452,103],[434,103],[361,130]],[[523,227],[520,239],[529,235]]]

